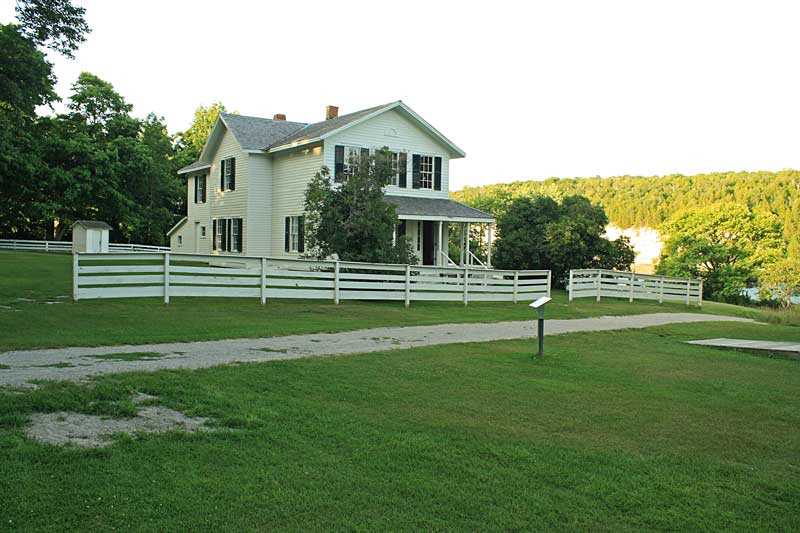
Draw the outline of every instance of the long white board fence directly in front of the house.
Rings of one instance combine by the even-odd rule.
[[[549,270],[486,270],[134,253],[75,254],[73,299],[218,296],[341,300],[531,301],[550,294]]]

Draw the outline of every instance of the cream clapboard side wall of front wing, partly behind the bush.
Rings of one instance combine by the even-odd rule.
[[[273,257],[295,257],[284,250],[284,220],[303,214],[308,184],[323,165],[322,146],[279,152],[272,159]]]

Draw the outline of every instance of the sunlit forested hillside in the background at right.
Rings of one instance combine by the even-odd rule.
[[[783,223],[790,253],[800,254],[800,170],[550,178],[467,187],[454,192],[452,197],[499,214],[511,198],[534,194],[555,198],[574,194],[587,196],[605,208],[611,222],[623,228],[658,227],[682,209],[733,201],[753,210],[775,213]]]

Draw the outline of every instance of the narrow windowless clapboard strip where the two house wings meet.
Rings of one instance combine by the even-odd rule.
[[[269,156],[249,154],[247,174],[247,253],[269,255],[272,231],[272,161]]]

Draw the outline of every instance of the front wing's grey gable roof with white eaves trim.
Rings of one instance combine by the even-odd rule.
[[[355,113],[342,115],[340,117],[332,118],[330,120],[324,120],[322,122],[309,124],[304,128],[297,130],[296,132],[293,132],[292,134],[286,136],[285,138],[280,139],[279,141],[273,143],[272,145],[266,145],[265,149],[269,152],[279,152],[281,150],[288,150],[290,148],[302,146],[304,144],[321,141],[324,140],[326,137],[330,137],[335,133],[339,133],[340,131],[346,130],[347,128],[351,128],[356,124],[360,124],[382,113],[385,113],[391,109],[397,109],[401,111],[407,117],[411,118],[417,124],[422,126],[422,128],[427,130],[433,137],[435,137],[442,144],[450,148],[452,156],[464,157],[466,155],[461,148],[453,144],[453,142],[450,139],[442,135],[439,132],[439,130],[428,124],[425,120],[423,120],[422,117],[417,115],[410,107],[404,104],[401,100],[398,100],[396,102],[391,102],[389,104],[379,105],[376,107],[370,107],[369,109],[363,109],[361,111],[356,111]]]

